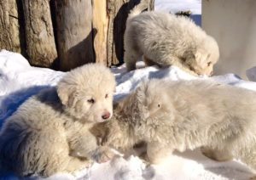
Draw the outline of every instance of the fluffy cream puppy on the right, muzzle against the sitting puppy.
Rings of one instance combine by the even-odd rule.
[[[237,158],[256,170],[256,93],[206,81],[151,80],[113,110],[103,143],[117,149],[148,143],[158,162],[177,149],[204,147],[215,160]]]

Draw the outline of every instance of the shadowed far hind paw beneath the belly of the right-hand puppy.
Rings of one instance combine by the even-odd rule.
[[[201,153],[208,158],[217,161],[226,161],[233,159],[233,155],[231,155],[228,149],[212,149],[210,147],[201,147]]]

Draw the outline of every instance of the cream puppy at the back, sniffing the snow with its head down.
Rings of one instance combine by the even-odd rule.
[[[193,75],[212,74],[217,63],[218,43],[184,16],[144,12],[143,5],[131,10],[125,30],[125,64],[135,70],[143,56],[146,65],[176,65]]]

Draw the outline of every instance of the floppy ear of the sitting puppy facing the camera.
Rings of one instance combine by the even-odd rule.
[[[61,81],[57,85],[57,93],[63,105],[71,106],[73,104],[74,87],[65,81]]]

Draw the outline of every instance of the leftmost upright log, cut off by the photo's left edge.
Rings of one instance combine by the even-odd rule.
[[[18,10],[15,0],[0,1],[0,49],[20,53]]]

